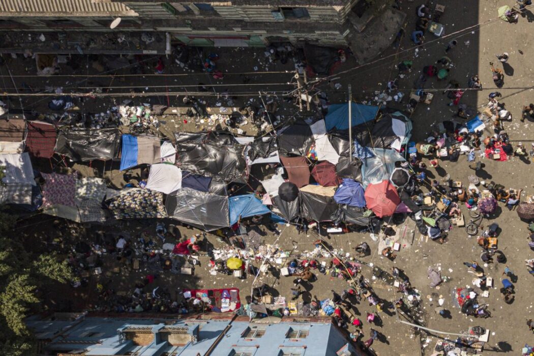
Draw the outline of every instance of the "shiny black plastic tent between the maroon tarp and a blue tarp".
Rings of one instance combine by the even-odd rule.
[[[54,151],[73,161],[112,160],[120,145],[118,129],[60,130]]]

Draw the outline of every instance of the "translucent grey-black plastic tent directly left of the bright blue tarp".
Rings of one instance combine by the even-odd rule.
[[[182,188],[167,196],[165,208],[170,218],[205,231],[229,226],[226,196]]]

